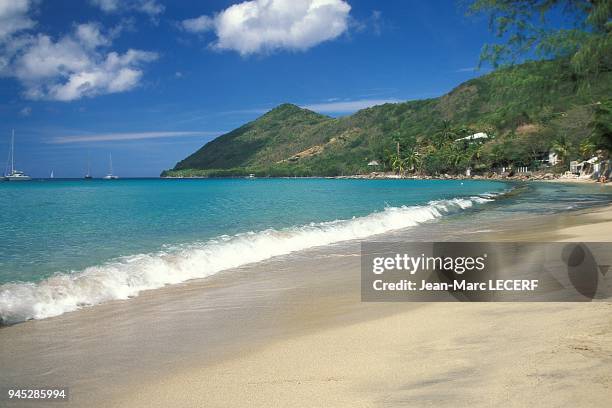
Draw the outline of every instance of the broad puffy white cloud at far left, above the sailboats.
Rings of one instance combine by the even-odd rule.
[[[139,84],[142,65],[157,54],[108,51],[113,36],[97,23],[86,23],[57,41],[45,34],[23,37],[19,49],[4,53],[0,73],[17,78],[28,99],[72,101],[128,91]]]

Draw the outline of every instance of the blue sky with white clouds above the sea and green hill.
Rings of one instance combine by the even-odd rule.
[[[0,0],[0,163],[155,177],[289,102],[329,116],[482,75],[450,0]]]

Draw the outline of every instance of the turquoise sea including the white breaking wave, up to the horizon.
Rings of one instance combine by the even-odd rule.
[[[546,183],[501,195],[514,187],[457,180],[2,182],[0,321],[56,316],[458,213],[550,213],[611,201],[591,187]]]

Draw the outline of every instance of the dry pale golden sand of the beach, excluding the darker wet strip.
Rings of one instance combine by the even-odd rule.
[[[606,207],[548,217],[529,233],[516,226],[503,239],[609,241],[611,227]],[[408,307],[363,304],[352,293],[294,310],[303,325],[292,335],[141,383],[109,406],[606,407],[612,399],[609,302]],[[331,323],[313,318],[328,313]]]

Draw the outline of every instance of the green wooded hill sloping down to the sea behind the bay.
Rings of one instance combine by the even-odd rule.
[[[592,134],[598,118],[604,124],[610,118],[610,95],[610,72],[580,78],[566,60],[553,60],[503,68],[439,98],[375,106],[341,118],[283,104],[207,143],[162,176],[533,168],[550,149],[568,161],[601,148]],[[477,132],[490,137],[484,143],[456,142]],[[372,160],[380,165],[368,166]]]

